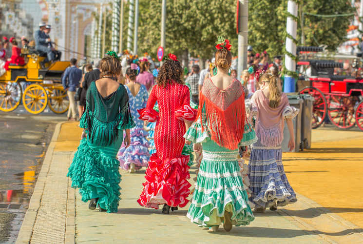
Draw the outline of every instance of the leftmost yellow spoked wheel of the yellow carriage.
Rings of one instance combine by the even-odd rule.
[[[10,112],[21,102],[21,87],[18,82],[0,82],[0,110]]]

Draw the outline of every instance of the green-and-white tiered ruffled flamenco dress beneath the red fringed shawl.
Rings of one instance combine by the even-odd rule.
[[[254,216],[248,204],[247,187],[241,177],[237,153],[239,146],[257,141],[255,132],[246,123],[246,119],[242,118],[245,121],[244,131],[241,132],[243,138],[239,143],[237,142],[239,146],[236,149],[230,150],[212,140],[205,103],[202,111],[199,112],[201,113],[198,114],[198,119],[184,135],[188,141],[202,143],[203,150],[203,159],[187,217],[192,223],[198,225],[218,226],[224,222],[224,214],[227,211],[231,213],[230,219],[233,225],[247,225],[254,220]],[[211,114],[212,117],[209,118],[215,117],[215,113]],[[210,124],[218,123],[210,121]]]

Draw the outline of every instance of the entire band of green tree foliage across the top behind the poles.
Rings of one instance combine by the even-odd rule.
[[[320,15],[353,13],[350,1],[296,0],[299,13]],[[129,3],[124,4],[123,49],[127,45]],[[248,44],[254,51],[283,53],[285,46],[287,0],[249,0]],[[106,49],[111,46],[111,11],[107,14]],[[95,15],[97,17],[97,15]],[[322,18],[304,16],[305,45],[325,44],[329,50],[346,41],[352,16]],[[96,18],[97,19],[97,18]],[[156,58],[160,45],[161,0],[139,0],[138,54],[148,52]],[[214,54],[218,35],[228,38],[231,52],[237,55],[235,0],[167,0],[166,53],[186,58],[187,54],[208,59]],[[297,26],[300,41],[301,25]]]

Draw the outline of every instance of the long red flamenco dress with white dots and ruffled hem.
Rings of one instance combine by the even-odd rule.
[[[159,113],[153,110],[155,102]],[[146,108],[139,110],[140,119],[155,122],[156,153],[150,157],[146,182],[137,202],[159,208],[160,204],[184,207],[190,193],[189,156],[182,155],[186,121],[194,121],[196,110],[190,107],[188,86],[176,82],[166,87],[155,85]]]

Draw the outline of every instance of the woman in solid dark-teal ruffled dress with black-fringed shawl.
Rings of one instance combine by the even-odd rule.
[[[83,128],[81,142],[69,167],[72,187],[80,188],[82,201],[90,209],[117,212],[120,200],[121,175],[116,154],[122,141],[130,145],[130,128],[134,121],[130,114],[129,97],[116,80],[121,63],[115,52],[100,63],[101,79],[92,82],[87,90],[85,112],[79,122]],[[126,136],[123,136],[123,130]]]

